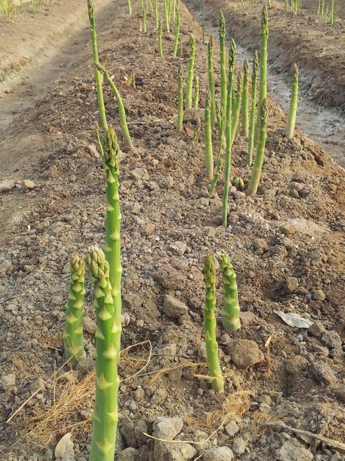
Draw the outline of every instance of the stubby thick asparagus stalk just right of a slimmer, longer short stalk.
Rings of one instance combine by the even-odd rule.
[[[223,273],[223,326],[226,332],[235,332],[241,328],[236,274],[227,254],[217,253],[216,258]]]

